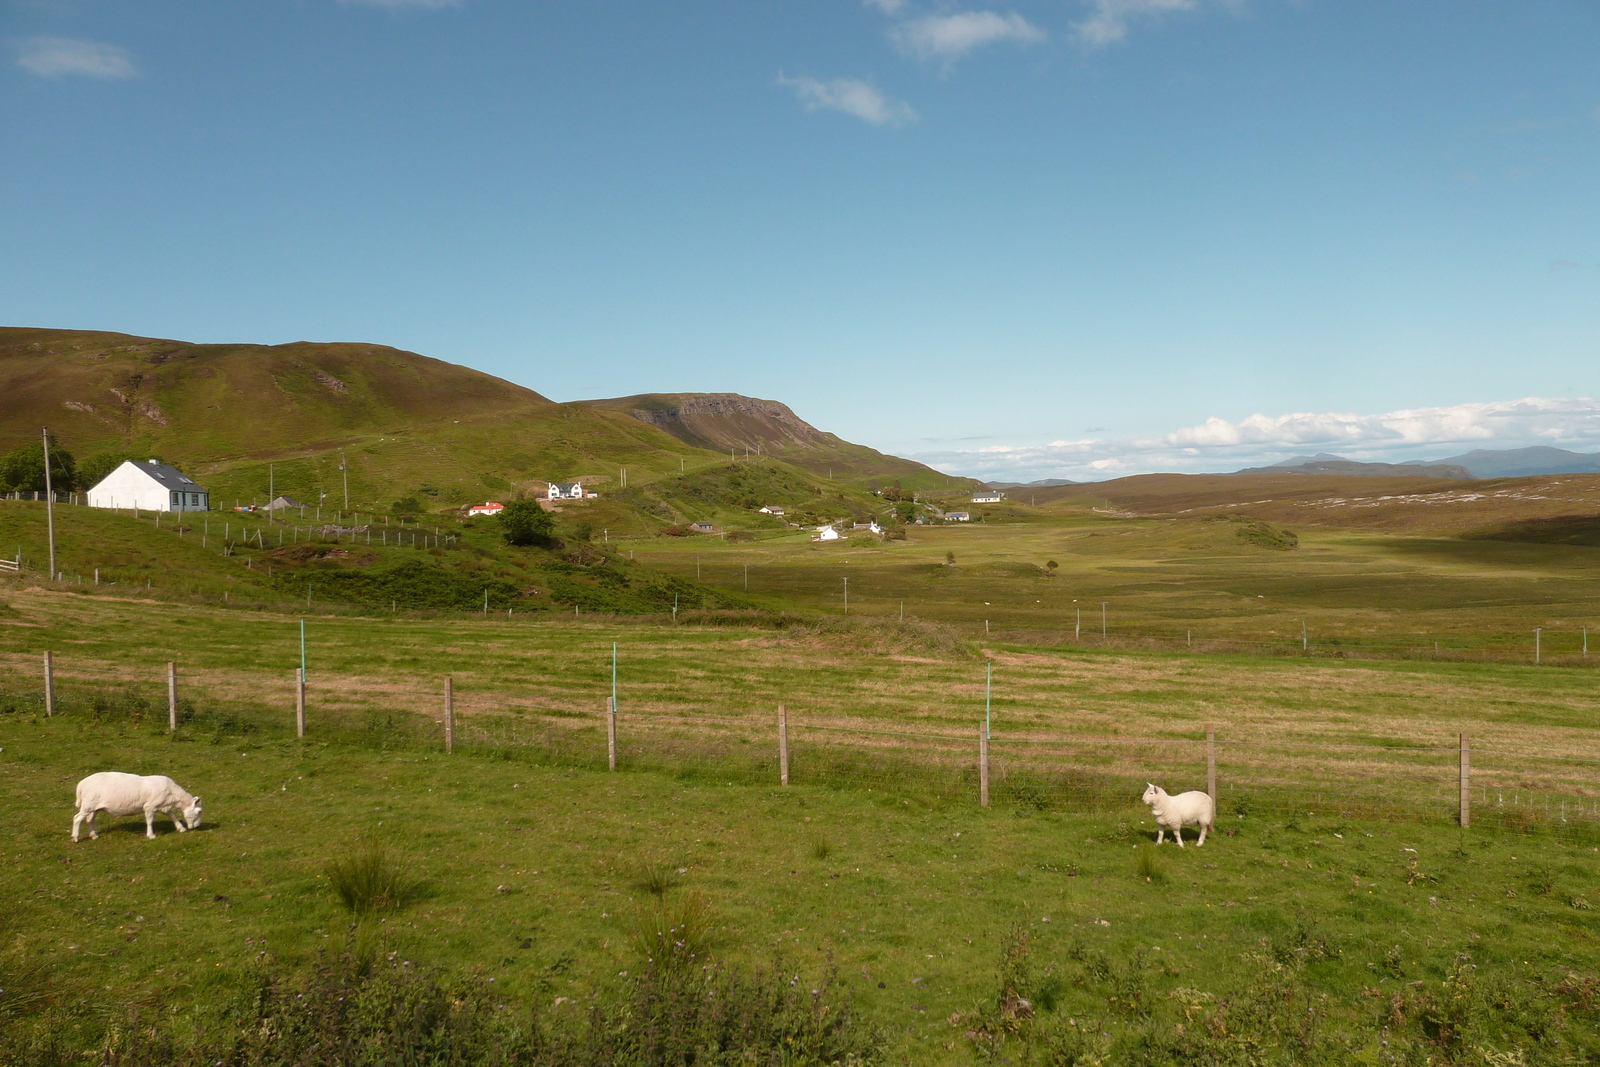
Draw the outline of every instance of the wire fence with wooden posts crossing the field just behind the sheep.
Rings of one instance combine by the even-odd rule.
[[[176,681],[176,685],[173,685]],[[146,670],[0,656],[0,718],[178,729],[213,739],[293,737],[298,677]],[[451,694],[446,697],[446,691]],[[803,709],[611,715],[562,693],[459,693],[414,683],[306,683],[307,744],[454,750],[488,758],[739,784],[850,789],[906,803],[1059,813],[1142,811],[1147,782],[1210,790],[1218,830],[1240,817],[1395,821],[1466,832],[1554,833],[1600,843],[1600,737],[1534,752],[1466,737],[1435,744],[1277,737],[1066,736],[1048,731],[886,729]],[[614,736],[614,742],[611,737]]]

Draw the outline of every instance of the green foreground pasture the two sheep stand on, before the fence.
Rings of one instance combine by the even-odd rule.
[[[994,1014],[1018,929],[1042,1030],[1170,1033],[1189,1005],[1291,981],[1358,1062],[1379,1062],[1395,998],[1438,992],[1462,958],[1530,997],[1600,965],[1600,854],[1544,835],[1235,816],[1205,848],[1150,849],[1136,797],[1112,814],[984,811],[406,745],[173,739],[75,713],[6,715],[0,749],[5,960],[30,976],[16,995],[37,997],[8,1016],[13,1048],[46,1017],[88,1051],[130,1009],[184,1033],[226,1027],[264,969],[360,939],[493,979],[498,998],[582,1011],[637,974],[629,929],[653,881],[669,907],[706,905],[715,960],[837,971],[893,1062],[989,1048],[965,1035]],[[72,845],[72,784],[107,766],[174,776],[206,824],[181,835],[163,819],[147,841],[142,819],[122,819]],[[325,869],[373,838],[418,893],[357,931]],[[1546,1024],[1509,1017],[1485,1040],[1536,1053],[1517,1062],[1566,1062],[1541,1045],[1594,1054],[1592,1030]]]

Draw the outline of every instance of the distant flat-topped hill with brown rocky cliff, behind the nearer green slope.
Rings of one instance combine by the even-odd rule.
[[[878,488],[952,490],[979,485],[912,459],[853,445],[800,419],[787,405],[738,394],[643,394],[613,400],[584,400],[582,406],[618,411],[659,427],[696,448],[734,456],[752,453],[784,459],[830,482]]]

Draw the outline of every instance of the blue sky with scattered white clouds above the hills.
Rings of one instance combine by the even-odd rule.
[[[952,474],[1600,450],[1594,0],[0,0],[0,323]]]

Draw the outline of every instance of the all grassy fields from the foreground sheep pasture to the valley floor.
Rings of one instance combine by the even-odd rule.
[[[696,944],[718,963],[781,953],[811,984],[832,968],[819,989],[880,1032],[885,1062],[1600,1054],[1600,693],[1582,669],[1600,657],[1578,645],[1592,549],[1301,528],[1290,550],[1227,520],[1037,510],[904,542],[606,545],[608,566],[770,608],[677,624],[306,609],[238,557],[85,517],[64,550],[102,553],[118,585],[0,579],[10,1062],[99,1062],[130,1011],[211,1048],[253,1025],[264,974],[318,953],[467,976],[576,1021],[626,1000],[635,928],[674,909],[704,912]],[[34,536],[19,515],[0,512],[5,534]],[[491,533],[459,533],[459,558],[517,566]],[[1094,608],[1077,640],[1074,598]],[[302,617],[310,734],[296,741]],[[1302,617],[1306,656],[1291,654]],[[1512,645],[1533,625],[1541,665]],[[1258,638],[1274,654],[1238,651]],[[598,715],[613,645],[614,774]],[[1462,657],[1483,648],[1504,651]],[[1203,787],[1208,728],[1219,833],[1152,849],[1138,792]],[[1461,734],[1469,830],[1451,825]],[[74,846],[72,784],[107,766],[173,774],[206,824],[163,821],[147,841],[125,819]],[[355,923],[326,869],[371,840],[418,893]]]

